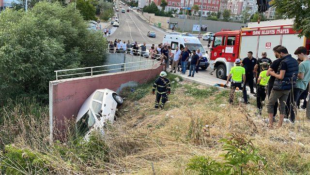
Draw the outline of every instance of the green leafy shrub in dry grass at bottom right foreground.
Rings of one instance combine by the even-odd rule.
[[[243,175],[261,174],[266,167],[266,160],[245,136],[229,134],[228,138],[220,142],[224,143],[222,150],[226,151],[226,154],[221,155],[224,162],[196,156],[189,160],[186,170],[200,175]]]

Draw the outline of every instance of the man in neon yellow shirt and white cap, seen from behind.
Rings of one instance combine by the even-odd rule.
[[[229,97],[229,103],[233,103],[233,98],[234,98],[234,91],[238,87],[240,90],[245,87],[245,82],[246,82],[246,70],[244,67],[241,67],[241,60],[236,59],[235,60],[236,66],[232,67],[231,72],[229,73],[227,77],[227,82],[226,84],[228,85],[228,82],[230,78],[232,77],[231,80],[231,94]],[[243,99],[246,104],[248,104],[248,96],[247,96],[247,90],[243,90]]]

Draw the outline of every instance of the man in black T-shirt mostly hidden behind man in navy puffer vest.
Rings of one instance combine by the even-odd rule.
[[[268,69],[268,71],[267,71],[267,73],[266,73],[267,76],[270,75],[270,74],[269,74],[270,72],[273,72],[273,71],[276,72],[276,71],[278,71],[279,65],[280,65],[281,61],[283,60],[283,59],[280,58],[279,54],[276,52],[276,50],[277,50],[280,46],[281,46],[281,45],[277,45],[277,46],[275,46],[275,47],[273,48],[273,53],[275,54],[275,57],[276,57],[277,59],[274,60],[274,61],[271,63],[271,65],[270,65],[270,67],[269,67],[269,69]],[[270,79],[269,79],[268,85],[267,85],[267,96],[268,96],[268,98],[269,98],[269,96],[270,96],[270,92],[271,92],[271,90],[272,90],[272,87],[273,87],[273,84],[274,84],[275,80],[276,80],[276,78],[275,78],[274,76],[270,76]],[[275,120],[275,117],[276,117],[276,115],[277,115],[277,112],[278,112],[278,102],[275,102],[274,108],[273,108],[273,120]]]

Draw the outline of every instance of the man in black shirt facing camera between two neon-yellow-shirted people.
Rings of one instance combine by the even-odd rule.
[[[253,57],[253,52],[249,51],[248,52],[248,57],[244,58],[242,60],[241,66],[245,68],[246,70],[246,83],[245,85],[247,85],[248,82],[248,86],[250,87],[250,93],[251,94],[255,94],[254,92],[254,66],[256,64],[256,58]],[[243,88],[244,90],[246,90],[246,87]]]

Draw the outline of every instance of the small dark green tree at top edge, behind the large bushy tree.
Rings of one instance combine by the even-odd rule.
[[[84,20],[96,20],[96,8],[89,0],[77,0],[77,9]]]

